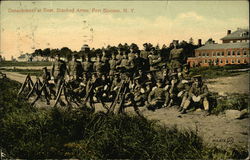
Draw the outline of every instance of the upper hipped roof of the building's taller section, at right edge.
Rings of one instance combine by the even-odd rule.
[[[226,35],[221,38],[221,40],[237,40],[237,39],[249,39],[249,29],[238,28],[236,31],[231,34]]]

